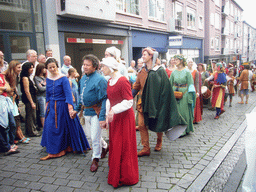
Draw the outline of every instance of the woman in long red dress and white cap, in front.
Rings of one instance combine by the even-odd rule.
[[[118,62],[114,58],[104,58],[102,64],[104,75],[111,77],[107,88],[109,102],[106,104],[109,124],[108,184],[115,188],[134,185],[139,181],[139,167],[131,85],[118,72]]]

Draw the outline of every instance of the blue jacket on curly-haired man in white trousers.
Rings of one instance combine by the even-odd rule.
[[[84,75],[79,82],[79,102],[75,110],[80,111],[81,106],[91,107],[102,102],[99,121],[105,121],[107,81],[97,71],[90,75]],[[84,109],[85,116],[94,116],[96,112],[93,108]]]

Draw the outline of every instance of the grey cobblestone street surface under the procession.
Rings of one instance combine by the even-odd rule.
[[[20,144],[19,154],[0,155],[0,191],[202,191],[246,128],[245,114],[256,106],[256,93],[250,93],[249,104],[238,101],[235,96],[233,107],[226,106],[218,120],[213,119],[215,111],[204,108],[195,132],[175,141],[164,137],[160,152],[153,151],[156,134],[150,132],[151,155],[139,158],[140,181],[134,186],[114,190],[107,184],[107,158],[91,173],[91,152],[40,161],[47,154],[39,137]],[[140,150],[138,132],[137,143]],[[215,189],[212,185],[204,191]]]

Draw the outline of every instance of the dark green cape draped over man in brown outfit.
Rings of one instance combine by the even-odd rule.
[[[142,93],[145,125],[154,132],[165,132],[176,125],[186,125],[178,112],[177,102],[165,70],[151,70]]]

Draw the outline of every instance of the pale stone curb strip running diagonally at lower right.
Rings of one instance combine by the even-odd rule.
[[[255,111],[256,107],[251,111]],[[251,113],[250,112],[250,113]],[[232,149],[234,144],[237,142],[239,137],[242,135],[247,127],[246,119],[240,124],[236,132],[231,136],[227,143],[222,147],[222,149],[216,154],[213,160],[207,165],[207,167],[202,171],[202,173],[195,179],[195,181],[186,190],[187,192],[198,192],[202,191],[210,178],[213,176],[215,171],[218,169],[222,161],[226,158],[229,151]]]

